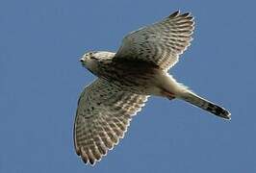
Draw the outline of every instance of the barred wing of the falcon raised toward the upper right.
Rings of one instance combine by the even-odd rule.
[[[150,26],[132,32],[122,40],[115,60],[153,62],[168,70],[190,45],[194,21],[191,14],[174,12]]]

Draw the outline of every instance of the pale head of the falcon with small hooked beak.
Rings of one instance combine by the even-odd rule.
[[[80,62],[82,62],[82,65],[90,70],[90,72],[93,72],[97,68],[98,60],[95,56],[97,52],[88,52],[86,53],[82,59],[80,59]]]

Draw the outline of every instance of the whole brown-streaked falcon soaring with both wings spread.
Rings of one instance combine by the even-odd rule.
[[[116,53],[93,51],[80,60],[98,78],[81,93],[74,125],[77,155],[94,165],[124,136],[150,95],[180,99],[230,119],[231,113],[190,90],[168,69],[192,41],[191,13],[173,12],[123,38]]]

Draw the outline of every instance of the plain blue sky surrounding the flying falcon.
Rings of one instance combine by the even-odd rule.
[[[0,1],[0,172],[256,172],[256,3],[250,1]],[[73,149],[82,88],[78,61],[115,51],[128,32],[176,10],[192,12],[192,46],[170,70],[232,112],[221,120],[152,97],[96,166]]]

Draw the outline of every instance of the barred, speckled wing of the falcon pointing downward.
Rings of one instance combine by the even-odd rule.
[[[94,164],[118,143],[133,115],[141,111],[147,100],[119,90],[103,79],[95,80],[82,92],[74,125],[74,144],[77,155]]]

